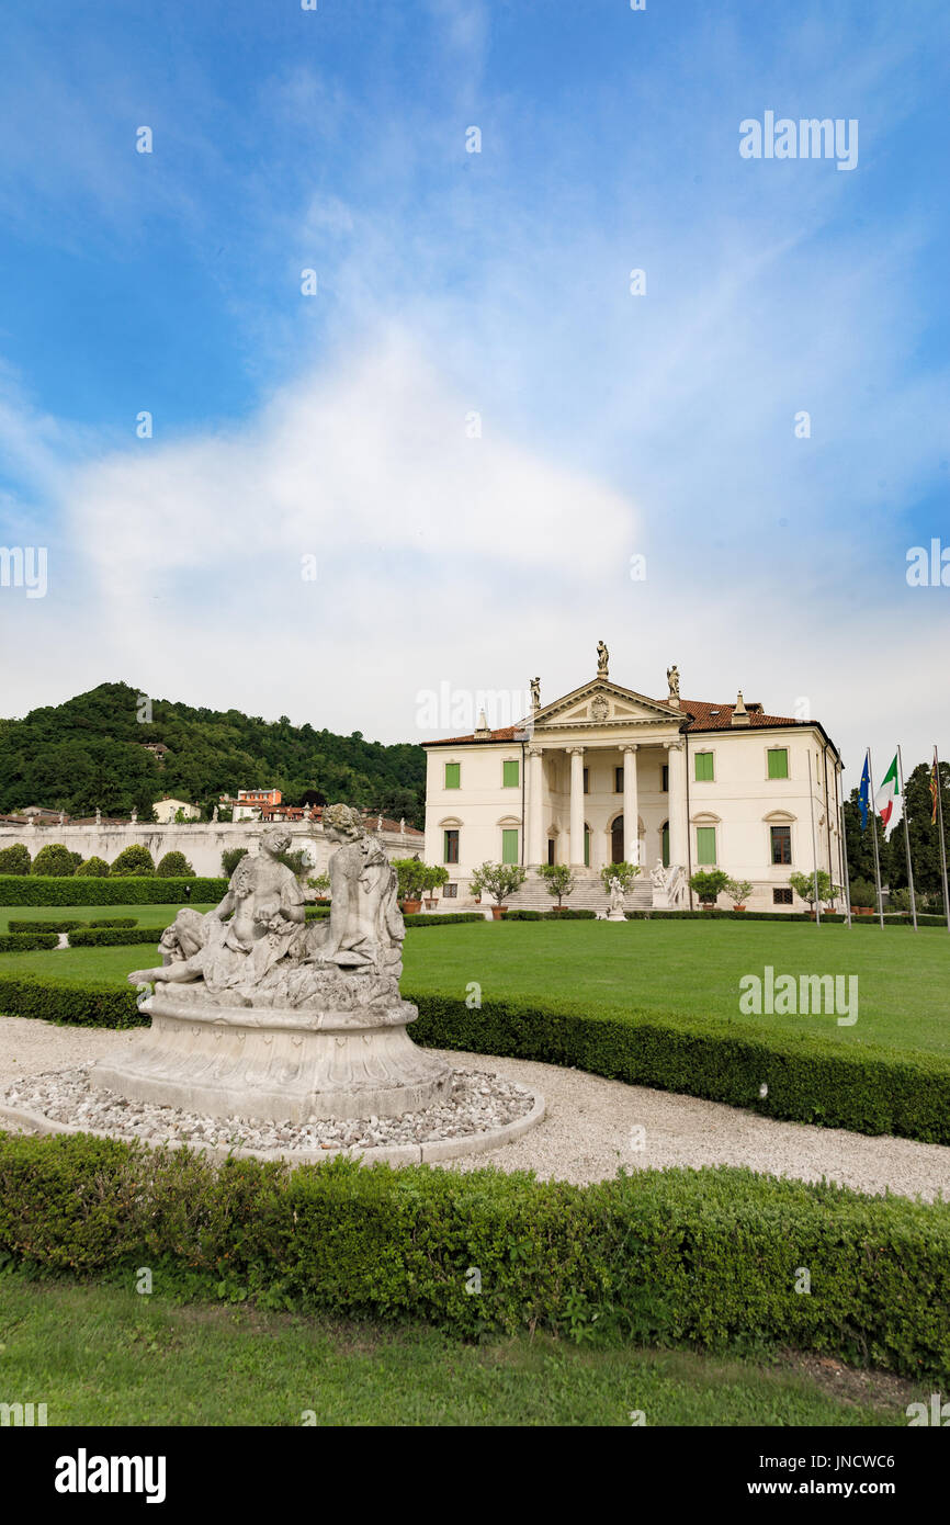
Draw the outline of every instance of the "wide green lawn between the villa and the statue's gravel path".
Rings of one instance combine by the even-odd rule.
[[[165,910],[168,920],[174,909],[133,907]],[[122,982],[156,961],[157,950],[142,944],[3,953],[0,971]],[[834,1016],[743,1016],[740,978],[761,978],[765,964],[776,976],[857,976],[854,1026],[839,1026]],[[941,927],[915,933],[801,921],[508,921],[409,929],[406,996],[465,997],[471,982],[482,987],[483,1000],[714,1016],[759,1032],[811,1031],[839,1043],[950,1055],[950,935]]]

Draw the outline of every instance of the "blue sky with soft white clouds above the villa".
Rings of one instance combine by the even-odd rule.
[[[0,589],[0,712],[122,677],[413,738],[604,636],[647,694],[807,698],[854,781],[950,755],[904,575],[950,546],[945,5],[11,9],[0,538],[49,592]],[[767,110],[857,166],[744,160]]]

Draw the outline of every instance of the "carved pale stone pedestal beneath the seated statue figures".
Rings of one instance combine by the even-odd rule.
[[[451,1068],[406,1032],[418,1011],[212,1006],[157,993],[130,1048],[90,1071],[93,1086],[130,1101],[268,1122],[390,1118],[451,1092]]]

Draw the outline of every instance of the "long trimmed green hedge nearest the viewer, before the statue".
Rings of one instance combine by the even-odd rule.
[[[467,1340],[538,1325],[950,1379],[950,1206],[749,1170],[573,1186],[346,1159],[213,1167],[88,1135],[0,1135],[0,1258],[127,1286],[151,1266],[178,1296],[422,1321]],[[794,1290],[802,1266],[810,1296]]]

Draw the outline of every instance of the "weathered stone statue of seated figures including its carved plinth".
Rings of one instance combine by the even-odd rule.
[[[444,1101],[451,1066],[406,1032],[400,994],[406,927],[396,872],[348,805],[323,810],[329,917],[307,921],[305,891],[284,857],[285,827],[236,865],[201,915],[183,906],[162,933],[163,964],[130,974],[154,985],[151,1016],[93,1086],[212,1116],[307,1121],[398,1116]]]

